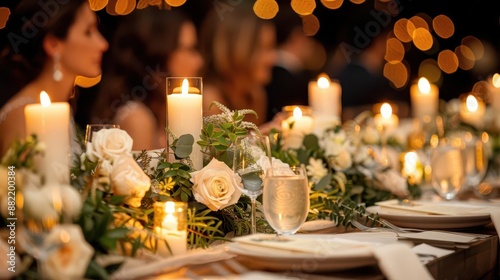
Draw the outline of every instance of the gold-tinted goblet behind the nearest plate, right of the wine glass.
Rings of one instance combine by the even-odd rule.
[[[309,212],[309,185],[305,167],[268,169],[262,200],[266,220],[278,236],[295,234]]]

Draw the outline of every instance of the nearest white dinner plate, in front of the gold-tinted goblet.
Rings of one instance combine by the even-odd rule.
[[[303,234],[294,235],[292,238],[315,239],[319,247],[324,247],[333,238],[353,241],[352,247],[331,249],[328,255],[306,252],[293,252],[249,245],[240,242],[229,243],[227,250],[238,255],[238,260],[253,269],[268,271],[307,271],[308,273],[322,271],[340,271],[363,266],[376,265],[373,256],[373,246],[397,242],[397,236],[390,232],[385,233],[346,233],[333,234]],[[358,244],[354,242],[359,242]],[[359,246],[366,242],[365,246]],[[371,244],[370,244],[371,243]]]

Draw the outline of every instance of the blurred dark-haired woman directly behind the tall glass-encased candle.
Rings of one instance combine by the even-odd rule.
[[[179,11],[135,10],[111,42],[93,123],[114,123],[134,140],[134,150],[165,148],[168,76],[199,76],[203,58],[192,21]]]

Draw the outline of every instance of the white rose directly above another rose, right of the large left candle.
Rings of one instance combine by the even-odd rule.
[[[87,143],[89,160],[114,162],[121,155],[132,155],[132,138],[119,128],[101,129],[94,133],[92,142]]]

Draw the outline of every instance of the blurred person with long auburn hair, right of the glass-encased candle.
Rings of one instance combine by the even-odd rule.
[[[245,4],[222,16],[212,10],[201,30],[201,52],[206,61],[204,114],[220,112],[215,106],[210,108],[213,101],[230,110],[252,109],[258,118],[247,115],[245,120],[268,133],[281,125],[280,117],[266,123],[264,87],[271,81],[275,62],[275,27],[271,21],[258,18]]]

